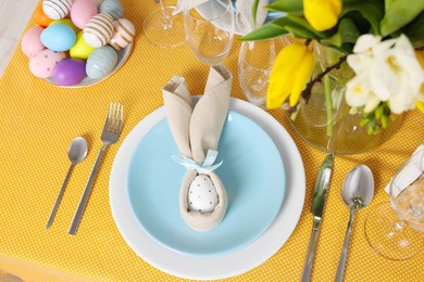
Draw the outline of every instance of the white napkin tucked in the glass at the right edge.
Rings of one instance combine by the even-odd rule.
[[[424,150],[424,144],[421,144],[415,152],[412,154],[412,158],[416,158],[411,162],[409,165],[402,168],[401,171],[399,171],[399,176],[397,177],[396,182],[396,190],[394,191],[395,196],[397,196],[400,192],[402,192],[406,188],[408,188],[412,182],[414,182],[420,175],[423,172],[422,169],[419,167],[424,166],[424,164],[420,164],[420,162],[423,162],[424,159],[420,159],[422,157],[422,154],[416,154],[420,150]],[[390,179],[390,182],[386,185],[384,189],[387,193],[390,193],[390,184],[392,182],[392,179]]]

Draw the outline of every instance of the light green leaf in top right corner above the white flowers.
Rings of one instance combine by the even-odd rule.
[[[386,0],[385,4],[385,16],[381,22],[381,31],[384,37],[400,29],[424,11],[422,0]]]

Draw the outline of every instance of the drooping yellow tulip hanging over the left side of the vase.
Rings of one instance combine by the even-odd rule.
[[[266,107],[277,108],[290,97],[295,106],[311,76],[313,67],[312,51],[301,43],[285,47],[277,55],[270,76]]]

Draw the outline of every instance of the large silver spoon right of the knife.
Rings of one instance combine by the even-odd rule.
[[[345,273],[346,258],[352,233],[353,214],[357,209],[367,206],[374,196],[374,177],[371,169],[365,165],[359,165],[350,170],[341,188],[341,197],[350,209],[348,229],[346,230],[345,243],[338,261],[335,281],[341,281]]]

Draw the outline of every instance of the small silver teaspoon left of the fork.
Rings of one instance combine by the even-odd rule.
[[[51,214],[49,217],[49,221],[47,221],[46,229],[49,229],[51,227],[51,223],[53,223],[55,213],[58,211],[58,207],[59,207],[59,204],[61,202],[62,195],[65,192],[65,187],[66,187],[67,180],[70,179],[72,169],[74,168],[74,166],[76,164],[83,162],[84,158],[86,158],[87,152],[88,152],[87,141],[84,138],[77,137],[71,141],[70,148],[67,149],[67,157],[71,161],[71,167],[67,170],[65,180],[63,181],[63,184],[62,184],[62,188],[59,192],[58,198],[55,200],[53,209],[51,210]]]

